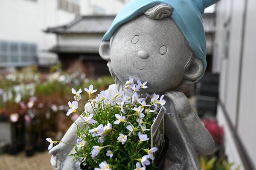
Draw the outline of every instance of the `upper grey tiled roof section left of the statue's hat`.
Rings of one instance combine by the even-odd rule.
[[[64,26],[48,28],[46,32],[59,34],[104,34],[115,16],[80,16]]]

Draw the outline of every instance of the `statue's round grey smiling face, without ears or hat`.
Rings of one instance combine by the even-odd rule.
[[[153,20],[140,15],[125,23],[111,41],[114,74],[125,83],[129,77],[148,82],[147,92],[163,93],[183,79],[189,45],[169,17]]]

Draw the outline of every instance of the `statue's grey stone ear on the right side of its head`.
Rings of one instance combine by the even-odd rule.
[[[185,71],[184,79],[195,81],[204,74],[204,64],[201,59],[194,58],[190,67]]]

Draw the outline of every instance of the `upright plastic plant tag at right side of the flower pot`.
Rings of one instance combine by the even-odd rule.
[[[154,153],[155,158],[158,159],[159,154],[162,152],[164,146],[164,112],[163,108],[160,109],[154,123],[151,126],[151,148],[157,147]]]

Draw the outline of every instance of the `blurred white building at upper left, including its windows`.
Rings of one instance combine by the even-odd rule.
[[[48,50],[57,40],[43,30],[69,23],[77,14],[116,14],[124,4],[124,0],[0,0],[0,67],[56,63],[56,54]]]

